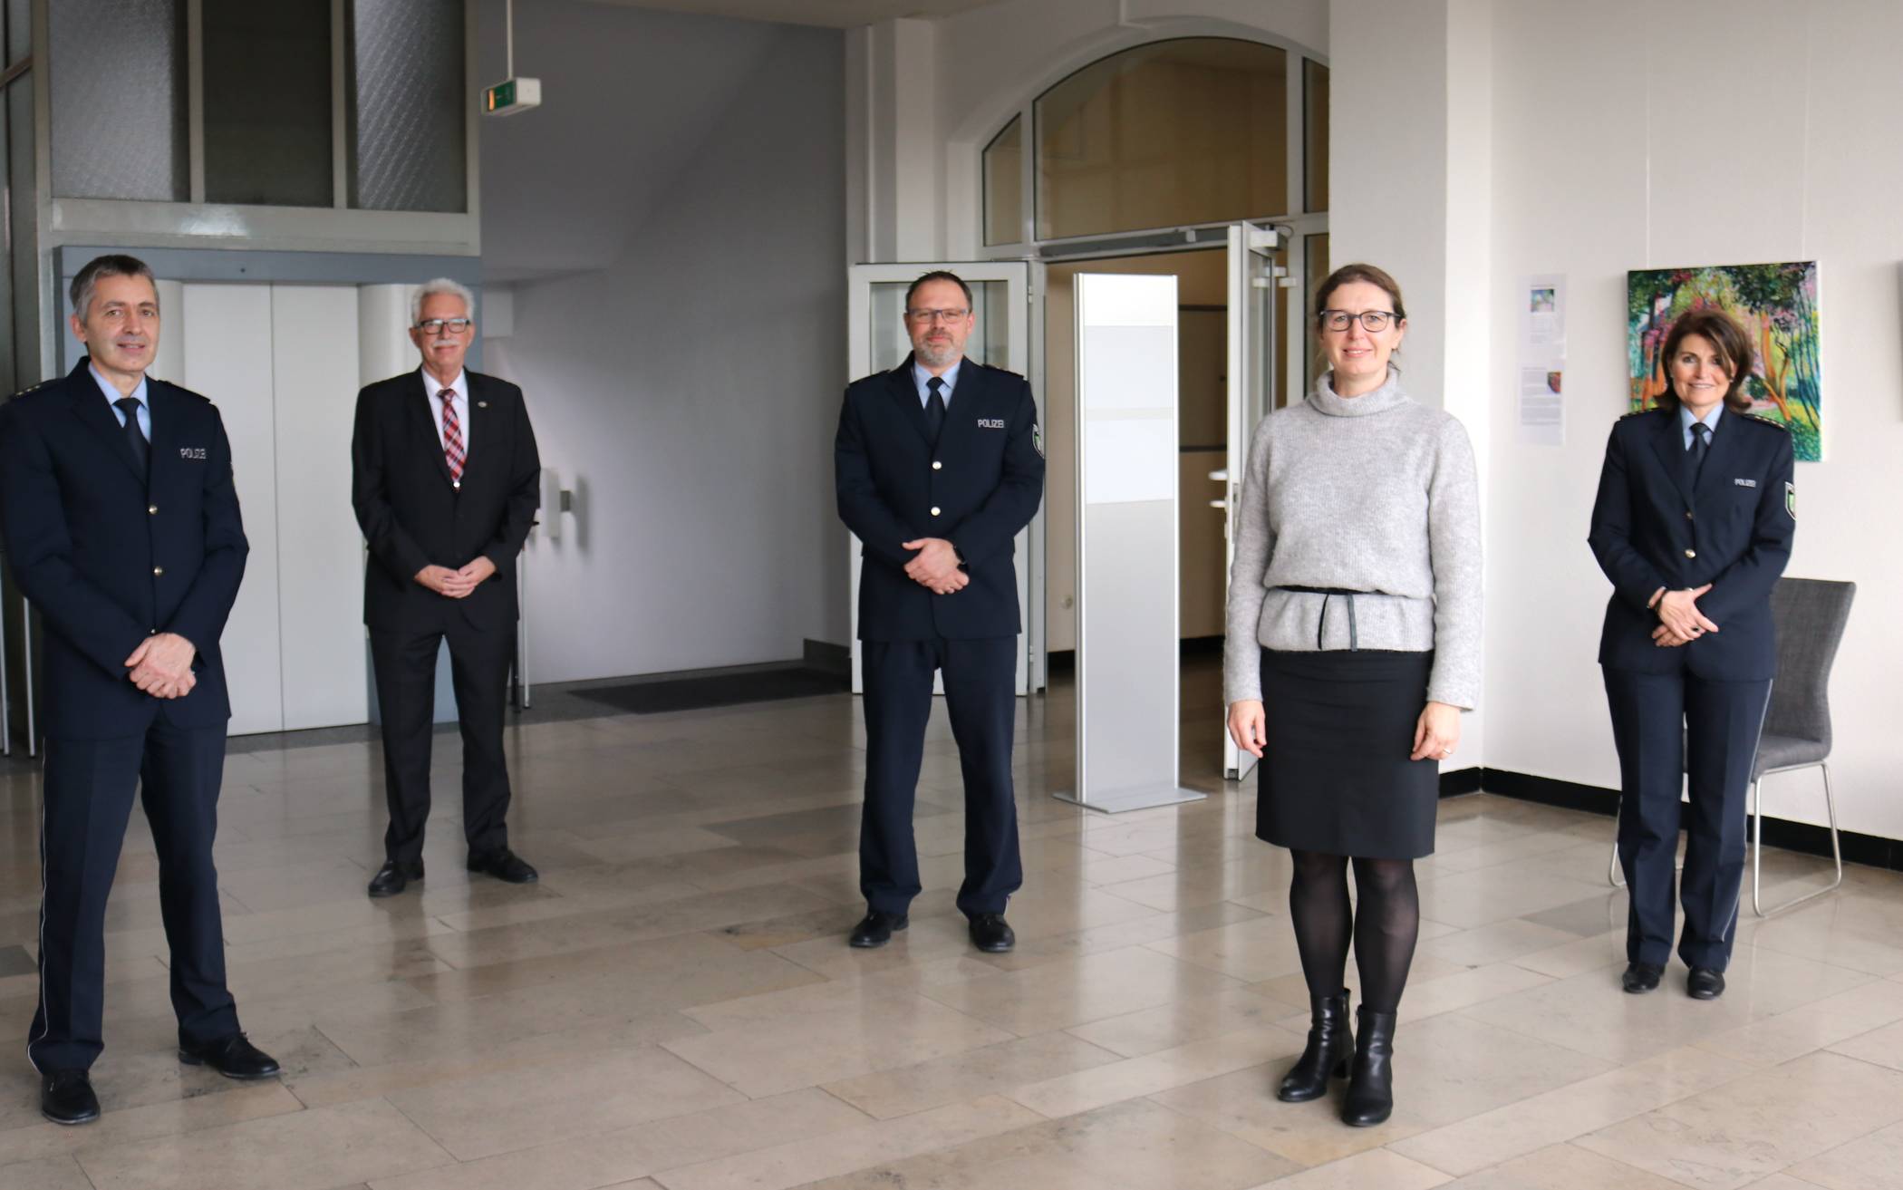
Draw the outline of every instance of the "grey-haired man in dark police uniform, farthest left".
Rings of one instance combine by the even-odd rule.
[[[70,375],[0,406],[0,529],[46,628],[40,1009],[27,1057],[40,1110],[99,1118],[105,914],[135,790],[158,847],[179,1061],[228,1078],[278,1062],[238,1030],[219,918],[219,783],[230,701],[219,634],[245,537],[230,442],[196,392],[147,377],[158,288],[105,255],[72,278]]]

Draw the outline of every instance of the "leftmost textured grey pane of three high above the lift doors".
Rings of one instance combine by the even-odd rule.
[[[53,194],[185,202],[183,0],[48,6]]]

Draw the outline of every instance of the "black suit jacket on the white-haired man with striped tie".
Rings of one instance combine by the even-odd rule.
[[[369,543],[363,623],[432,628],[457,604],[476,628],[516,623],[516,556],[542,503],[542,459],[521,388],[462,369],[468,385],[468,457],[461,487],[449,480],[422,371],[358,392],[350,438],[350,503]],[[459,569],[478,556],[495,575],[464,600],[417,583],[426,565]]]

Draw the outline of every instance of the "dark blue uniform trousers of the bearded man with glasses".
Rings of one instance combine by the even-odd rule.
[[[952,596],[957,598],[957,596]],[[1018,638],[860,642],[866,682],[866,805],[858,830],[858,887],[866,906],[904,914],[919,895],[912,805],[932,714],[932,672],[946,680],[946,710],[965,775],[965,916],[1001,914],[1024,883],[1018,811],[1010,784]]]

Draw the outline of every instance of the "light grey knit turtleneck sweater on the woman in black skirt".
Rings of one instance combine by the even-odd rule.
[[[1473,444],[1452,415],[1416,404],[1389,369],[1355,398],[1315,383],[1256,426],[1243,476],[1224,695],[1262,697],[1269,649],[1433,649],[1427,699],[1473,708],[1481,693],[1481,495]],[[1326,619],[1323,604],[1326,600]],[[1317,630],[1321,644],[1317,645]]]

